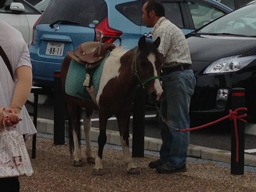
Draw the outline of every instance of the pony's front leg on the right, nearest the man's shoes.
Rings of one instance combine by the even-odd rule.
[[[127,172],[130,174],[140,174],[140,170],[133,163],[131,153],[129,150],[129,120],[131,113],[128,111],[122,111],[116,115],[119,132],[120,132],[120,141],[123,150],[123,159],[124,165],[127,169]]]

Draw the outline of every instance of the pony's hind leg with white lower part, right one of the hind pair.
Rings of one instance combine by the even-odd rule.
[[[86,142],[86,160],[88,163],[95,163],[95,158],[92,155],[90,130],[92,127],[93,110],[85,109],[86,116],[84,117],[84,134]]]

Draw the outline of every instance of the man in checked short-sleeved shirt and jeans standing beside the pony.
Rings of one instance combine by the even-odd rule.
[[[143,4],[142,19],[152,28],[153,40],[159,36],[159,51],[164,55],[163,95],[160,111],[175,129],[189,127],[189,106],[195,89],[195,76],[191,68],[188,43],[183,32],[164,17],[161,1],[150,0]],[[158,173],[186,172],[189,132],[178,132],[159,120],[163,144],[160,158],[148,164]]]

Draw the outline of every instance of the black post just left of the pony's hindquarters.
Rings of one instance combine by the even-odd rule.
[[[65,144],[65,99],[60,71],[54,71],[54,145]]]

